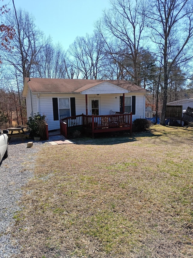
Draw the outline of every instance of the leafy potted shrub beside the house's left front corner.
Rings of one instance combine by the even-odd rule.
[[[27,120],[27,127],[30,130],[30,136],[34,138],[35,141],[45,139],[46,131],[46,116],[42,116],[38,112],[34,116],[30,116]]]

